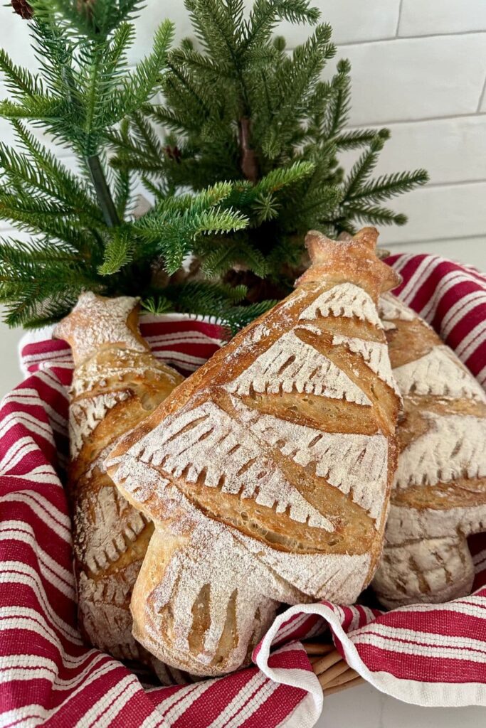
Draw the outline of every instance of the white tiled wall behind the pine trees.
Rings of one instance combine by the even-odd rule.
[[[314,4],[334,28],[337,58],[353,64],[350,124],[391,130],[377,172],[426,167],[431,174],[426,188],[396,199],[394,207],[409,215],[409,224],[383,229],[383,244],[486,270],[486,0]],[[137,21],[130,63],[149,49],[164,17],[176,21],[178,38],[190,34],[182,0],[149,0]],[[294,47],[307,31],[286,24],[281,33]],[[0,44],[17,63],[34,66],[27,24],[8,7],[0,7]],[[1,122],[0,137],[12,138]],[[352,154],[345,157],[346,165],[352,161]],[[2,381],[1,389],[13,383]]]

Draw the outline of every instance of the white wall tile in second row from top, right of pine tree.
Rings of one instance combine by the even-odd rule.
[[[352,124],[474,114],[486,76],[486,33],[345,45]]]

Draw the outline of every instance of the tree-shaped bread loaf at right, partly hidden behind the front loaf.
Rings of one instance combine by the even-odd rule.
[[[439,336],[391,295],[380,302],[404,398],[399,464],[373,585],[389,607],[469,594],[466,542],[486,530],[486,395]]]

